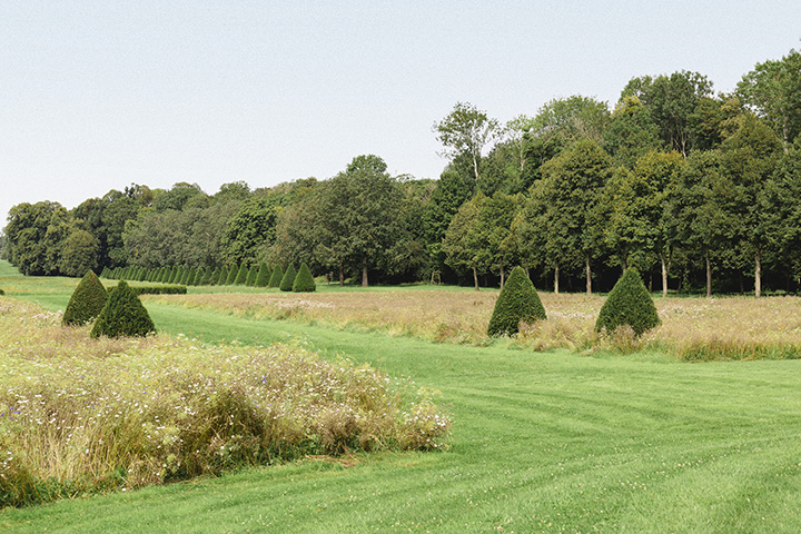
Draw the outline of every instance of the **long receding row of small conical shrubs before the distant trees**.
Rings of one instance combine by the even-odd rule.
[[[146,269],[144,267],[109,269],[107,267],[103,268],[100,277],[112,280],[126,279],[184,286],[278,287],[283,291],[314,291],[317,287],[312,271],[305,263],[297,271],[291,264],[284,271],[280,265],[276,265],[270,269],[264,261],[258,266],[254,264],[248,267],[245,264],[241,266],[235,264],[214,269],[211,267],[195,268],[189,266],[159,267],[156,269]],[[299,281],[296,285],[295,280],[298,277]]]

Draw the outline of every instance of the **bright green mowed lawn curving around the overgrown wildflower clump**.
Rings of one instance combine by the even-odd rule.
[[[10,296],[63,309],[69,280],[30,281],[26,291],[27,279],[0,271]],[[451,449],[309,458],[4,510],[3,532],[801,532],[799,360],[587,357],[148,308],[165,332],[299,339],[412,376],[451,406]]]

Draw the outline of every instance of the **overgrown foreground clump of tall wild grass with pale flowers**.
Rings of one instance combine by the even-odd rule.
[[[451,425],[408,380],[290,345],[90,339],[0,303],[0,507],[307,454],[436,449]]]

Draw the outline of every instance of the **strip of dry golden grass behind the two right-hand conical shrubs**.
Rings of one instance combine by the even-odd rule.
[[[655,349],[682,359],[801,357],[801,298],[656,298],[662,325],[642,338],[599,336],[604,297],[542,293],[548,319],[524,325],[514,344],[536,350]],[[254,318],[365,328],[441,343],[490,343],[487,324],[497,291],[448,289],[320,294],[152,296],[164,301]]]

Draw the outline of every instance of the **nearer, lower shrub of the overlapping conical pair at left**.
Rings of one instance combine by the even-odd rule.
[[[134,289],[125,280],[120,280],[109,294],[90,336],[147,336],[151,333],[156,333],[156,326],[145,305]]]

